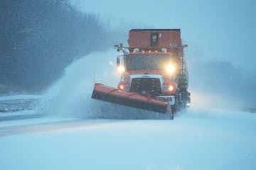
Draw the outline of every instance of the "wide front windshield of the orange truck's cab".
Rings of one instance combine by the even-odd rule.
[[[127,70],[161,69],[164,63],[169,62],[168,54],[134,54],[125,57]]]

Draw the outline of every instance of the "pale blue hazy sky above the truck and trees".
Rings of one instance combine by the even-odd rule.
[[[256,1],[72,0],[110,28],[181,28],[190,60],[220,60],[256,72]],[[124,40],[126,41],[126,40]]]

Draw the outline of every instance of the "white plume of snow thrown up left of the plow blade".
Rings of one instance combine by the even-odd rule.
[[[65,74],[43,96],[38,110],[47,115],[94,117],[98,106],[91,99],[95,82],[117,86],[115,73],[117,52],[95,52],[76,60],[65,69]]]

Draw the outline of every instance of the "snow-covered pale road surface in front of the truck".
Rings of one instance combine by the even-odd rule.
[[[3,120],[0,169],[256,169],[255,129],[255,113],[193,108],[175,120]]]

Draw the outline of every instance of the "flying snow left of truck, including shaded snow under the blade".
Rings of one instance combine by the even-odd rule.
[[[162,119],[168,116],[91,98],[95,82],[117,86],[117,55],[120,54],[113,49],[95,52],[70,64],[63,77],[43,96],[38,112],[73,118]]]

